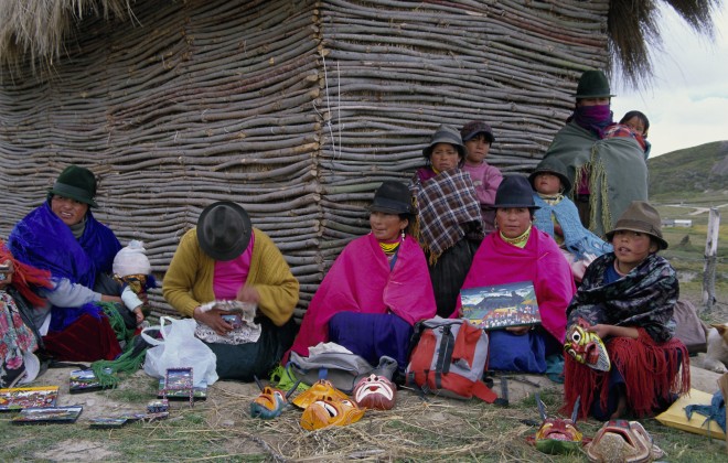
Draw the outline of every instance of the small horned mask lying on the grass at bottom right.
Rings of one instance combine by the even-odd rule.
[[[577,451],[582,443],[584,434],[576,427],[580,399],[574,405],[571,418],[548,418],[546,407],[536,392],[536,405],[543,420],[540,428],[536,431],[535,439],[529,440],[539,452],[558,454]]]

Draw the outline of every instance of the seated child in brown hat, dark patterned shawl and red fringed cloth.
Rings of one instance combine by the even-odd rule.
[[[565,356],[564,410],[581,397],[580,417],[652,416],[690,387],[687,349],[673,337],[677,278],[657,256],[667,241],[660,214],[646,202],[633,202],[607,238],[614,251],[589,266],[567,316],[569,326],[588,325],[604,342],[611,369]]]

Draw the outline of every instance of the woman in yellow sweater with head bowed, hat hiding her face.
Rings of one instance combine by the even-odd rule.
[[[206,343],[217,356],[221,379],[253,380],[267,376],[293,342],[291,319],[299,282],[272,240],[253,228],[239,205],[221,201],[207,206],[196,228],[184,234],[162,286],[164,299],[182,315],[192,316],[221,336],[234,330],[213,301],[257,304],[263,332],[256,342]]]

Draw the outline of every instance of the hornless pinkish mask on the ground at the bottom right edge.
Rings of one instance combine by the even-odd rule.
[[[651,462],[665,455],[642,424],[627,420],[604,423],[585,450],[590,462]]]

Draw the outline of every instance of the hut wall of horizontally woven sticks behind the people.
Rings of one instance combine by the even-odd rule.
[[[480,118],[490,162],[528,172],[608,60],[601,1],[138,0],[87,18],[52,72],[0,71],[0,237],[69,163],[96,217],[160,277],[213,201],[244,205],[301,282],[297,315],[386,179],[440,123]],[[158,312],[170,308],[152,294]]]

